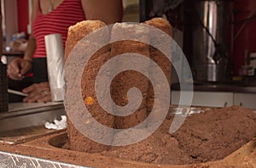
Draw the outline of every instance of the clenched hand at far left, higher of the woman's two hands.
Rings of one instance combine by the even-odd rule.
[[[22,80],[29,70],[32,69],[32,62],[26,59],[16,58],[9,65],[7,73],[13,80]]]

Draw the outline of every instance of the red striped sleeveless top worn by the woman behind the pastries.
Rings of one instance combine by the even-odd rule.
[[[49,14],[42,14],[38,0],[38,15],[33,21],[32,32],[37,42],[33,58],[45,58],[44,36],[58,33],[62,35],[63,47],[67,40],[70,25],[85,20],[81,0],[63,0],[63,2]]]

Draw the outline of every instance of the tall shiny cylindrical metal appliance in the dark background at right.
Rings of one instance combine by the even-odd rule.
[[[231,0],[193,0],[190,12],[191,65],[195,81],[230,81]]]

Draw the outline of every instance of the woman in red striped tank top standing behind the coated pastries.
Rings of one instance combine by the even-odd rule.
[[[28,38],[24,58],[14,59],[8,67],[12,80],[22,81],[32,71],[33,84],[22,89],[28,96],[23,102],[51,101],[47,75],[44,36],[59,33],[63,46],[67,40],[67,30],[82,20],[102,20],[113,24],[121,20],[121,0],[33,0],[32,34]]]

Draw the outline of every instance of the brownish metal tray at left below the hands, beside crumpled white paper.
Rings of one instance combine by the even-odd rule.
[[[60,120],[66,115],[63,104],[9,104],[9,111],[0,113],[0,142],[24,143],[58,131],[44,128],[45,122]]]

